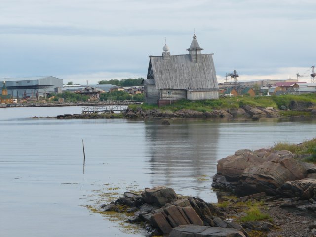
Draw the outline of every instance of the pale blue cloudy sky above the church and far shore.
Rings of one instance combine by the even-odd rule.
[[[150,54],[187,54],[194,32],[218,82],[296,79],[315,60],[315,0],[0,0],[0,78],[146,77]],[[300,81],[310,82],[310,77]]]

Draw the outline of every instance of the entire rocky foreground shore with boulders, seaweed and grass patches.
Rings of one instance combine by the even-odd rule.
[[[98,210],[126,213],[126,221],[165,237],[316,237],[316,165],[304,158],[238,150],[218,161],[218,204],[154,187],[125,192]]]

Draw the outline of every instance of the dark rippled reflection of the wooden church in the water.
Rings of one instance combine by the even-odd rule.
[[[175,190],[210,189],[210,176],[216,169],[219,127],[205,121],[146,122],[146,150],[151,170],[151,185],[165,185]]]

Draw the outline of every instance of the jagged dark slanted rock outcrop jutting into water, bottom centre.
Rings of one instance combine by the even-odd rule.
[[[181,199],[173,189],[163,186],[146,188],[141,195],[125,192],[115,202],[101,205],[100,210],[121,212],[119,207],[122,206],[128,206],[126,212],[134,213],[128,217],[131,223],[145,222],[145,228],[153,234],[169,234],[179,226],[200,226],[208,230],[209,236],[212,233],[209,227],[212,227],[217,230],[214,233],[218,236],[223,232],[225,235],[220,236],[231,237],[234,236],[231,233],[241,233],[240,236],[248,237],[241,225],[221,218],[223,213],[215,205],[195,197]]]

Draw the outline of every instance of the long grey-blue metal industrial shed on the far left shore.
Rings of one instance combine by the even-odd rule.
[[[61,91],[63,88],[63,80],[53,76],[2,78],[0,79],[0,87],[4,81],[8,95],[13,98],[36,99]]]

